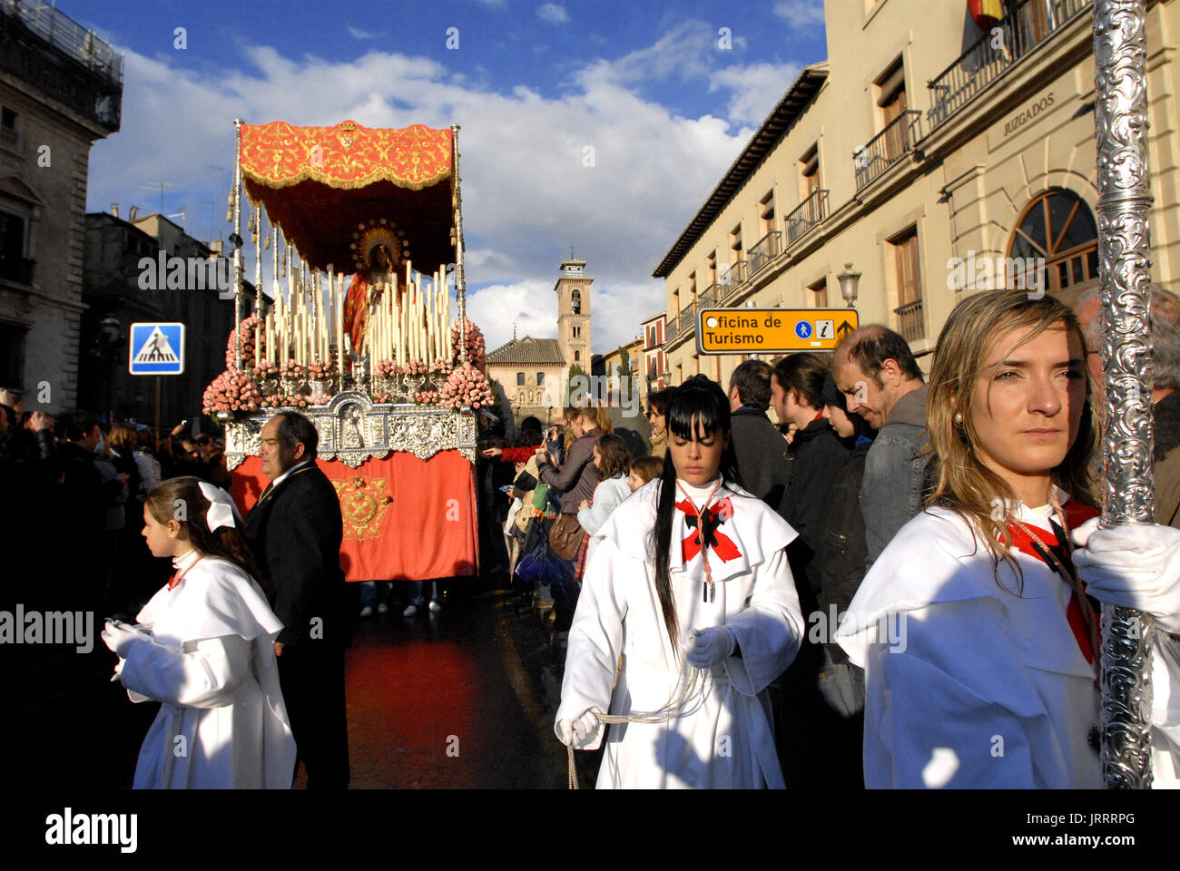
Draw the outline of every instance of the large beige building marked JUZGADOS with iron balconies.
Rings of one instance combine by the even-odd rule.
[[[699,306],[840,307],[929,366],[963,294],[1097,279],[1090,0],[827,0],[828,60],[806,67],[654,275],[667,287],[669,384],[728,382],[696,351]],[[1153,279],[1180,268],[1174,66],[1180,2],[1147,4]],[[851,266],[846,266],[851,264]]]

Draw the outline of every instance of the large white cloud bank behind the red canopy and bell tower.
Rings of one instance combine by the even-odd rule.
[[[663,282],[651,270],[745,145],[748,133],[730,120],[761,120],[775,87],[781,96],[789,83],[786,67],[771,65],[715,73],[729,53],[712,45],[712,30],[689,22],[645,50],[576,70],[557,98],[523,86],[497,92],[478,71],[465,78],[435,60],[376,50],[336,60],[249,46],[241,68],[199,73],[127,51],[123,129],[91,152],[90,208],[155,210],[145,185],[172,181],[169,211],[186,202],[189,228],[203,236],[209,207],[198,203],[211,199],[214,235],[228,235],[222,176],[206,168],[232,165],[235,117],[459,123],[470,307],[489,348],[511,339],[513,320],[519,335],[556,336],[552,288],[572,244],[595,276],[592,340],[602,353],[663,309]],[[637,93],[654,77],[688,73],[730,90],[734,117],[684,117]]]

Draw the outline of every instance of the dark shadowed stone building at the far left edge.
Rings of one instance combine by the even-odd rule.
[[[0,386],[78,405],[91,145],[119,129],[123,57],[50,5],[0,2]]]

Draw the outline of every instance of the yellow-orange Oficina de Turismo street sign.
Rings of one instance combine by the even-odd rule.
[[[834,351],[860,326],[854,308],[704,308],[696,325],[701,354],[792,354]]]

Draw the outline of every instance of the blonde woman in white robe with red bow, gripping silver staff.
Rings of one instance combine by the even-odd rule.
[[[1159,620],[1155,779],[1176,782],[1180,532],[1093,531],[1086,356],[1050,296],[976,294],[946,321],[926,402],[933,495],[837,634],[866,669],[866,786],[1100,787],[1092,596]]]

